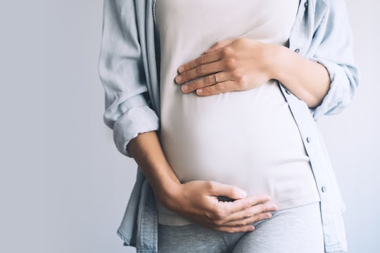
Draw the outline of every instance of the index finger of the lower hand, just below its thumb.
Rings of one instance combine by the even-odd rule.
[[[227,197],[229,197],[229,196],[227,196]],[[243,211],[247,208],[250,208],[254,205],[258,205],[261,202],[267,202],[267,201],[270,201],[269,195],[258,194],[258,195],[244,197],[242,199],[235,200],[233,202],[218,202],[217,208],[224,209],[224,212],[227,214],[227,216],[229,216],[230,214],[234,214],[236,212],[241,212],[241,211]],[[255,208],[256,213],[259,213],[257,211],[258,208],[260,209],[260,207]],[[267,207],[265,207],[265,208],[267,208]]]

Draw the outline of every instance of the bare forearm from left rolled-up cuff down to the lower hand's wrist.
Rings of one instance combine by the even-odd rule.
[[[166,160],[157,132],[139,134],[129,141],[127,149],[141,167],[159,202],[168,203],[181,183]]]

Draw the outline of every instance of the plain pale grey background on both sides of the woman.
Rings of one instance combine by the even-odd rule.
[[[355,101],[318,124],[338,176],[349,252],[379,252],[378,1],[348,0],[361,70]],[[0,252],[135,252],[116,235],[134,160],[103,124],[103,1],[0,9]]]

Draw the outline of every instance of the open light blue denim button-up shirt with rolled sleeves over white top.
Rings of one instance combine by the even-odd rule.
[[[99,77],[105,91],[104,123],[123,155],[127,143],[146,131],[160,131],[160,44],[156,0],[105,0]],[[254,13],[252,14],[254,15]],[[353,37],[344,0],[300,0],[289,48],[324,65],[331,86],[322,103],[308,108],[280,84],[310,157],[322,212],[326,252],[346,251],[342,213],[346,210],[316,120],[349,105],[359,83]],[[118,235],[137,252],[157,252],[156,199],[143,171],[129,197]]]

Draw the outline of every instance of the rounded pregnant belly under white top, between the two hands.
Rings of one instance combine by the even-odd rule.
[[[309,166],[275,82],[205,97],[178,90],[163,99],[160,141],[182,183],[213,180],[271,194],[274,186],[291,183],[292,173]]]

